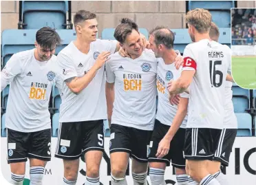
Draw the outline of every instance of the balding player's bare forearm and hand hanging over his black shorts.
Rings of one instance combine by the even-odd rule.
[[[171,124],[167,134],[164,135],[164,138],[162,138],[158,144],[158,153],[156,154],[156,157],[162,158],[164,155],[169,153],[170,142],[173,140],[173,137],[177,133],[178,129],[180,129],[180,125],[182,124],[182,121],[184,120],[187,113],[188,104],[189,98],[180,98],[180,103],[178,104],[177,113],[173,118],[173,123]]]

